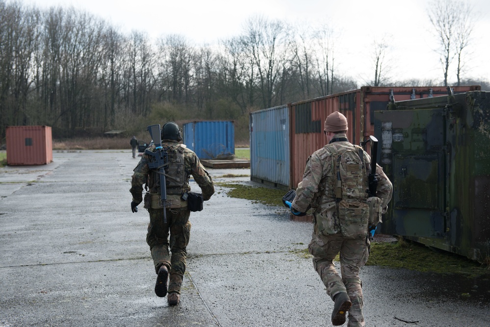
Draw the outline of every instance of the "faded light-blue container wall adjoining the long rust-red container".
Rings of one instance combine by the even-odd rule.
[[[250,113],[250,179],[289,189],[289,108]]]

